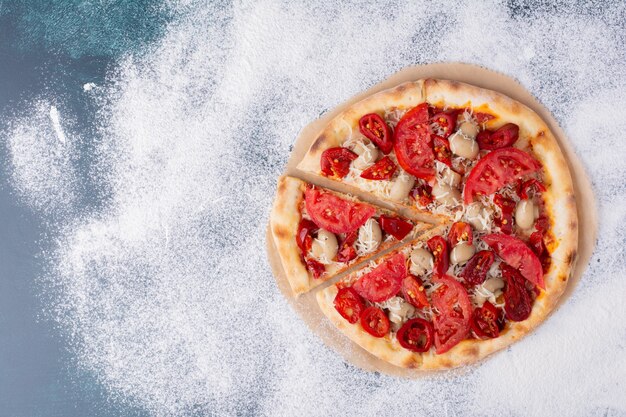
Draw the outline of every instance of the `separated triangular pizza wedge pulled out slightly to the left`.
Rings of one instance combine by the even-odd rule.
[[[431,227],[289,176],[279,179],[270,218],[296,295]]]

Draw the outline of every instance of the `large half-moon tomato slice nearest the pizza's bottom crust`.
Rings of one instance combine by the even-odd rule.
[[[432,293],[432,304],[436,309],[435,351],[445,353],[469,334],[472,318],[472,303],[460,282],[449,275],[433,279],[441,284]]]

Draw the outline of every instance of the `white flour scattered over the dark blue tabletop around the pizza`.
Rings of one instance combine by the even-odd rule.
[[[150,53],[92,91],[103,139],[89,179],[111,190],[100,212],[71,203],[83,151],[59,140],[49,104],[8,135],[12,183],[58,242],[51,313],[113,398],[158,416],[626,415],[623,3],[530,3],[515,18],[464,1],[181,8]],[[321,112],[449,60],[512,75],[553,110],[596,190],[597,250],[567,303],[481,366],[412,381],[362,372],[274,284],[275,180]]]

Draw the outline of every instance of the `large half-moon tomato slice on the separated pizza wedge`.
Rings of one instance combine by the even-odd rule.
[[[304,203],[313,222],[335,234],[358,229],[376,213],[376,209],[369,204],[344,200],[313,187],[304,191]]]

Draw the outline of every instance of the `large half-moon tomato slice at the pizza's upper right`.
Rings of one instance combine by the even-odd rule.
[[[472,169],[463,190],[465,204],[475,195],[490,195],[524,175],[541,169],[541,164],[524,151],[502,148],[489,152]]]

